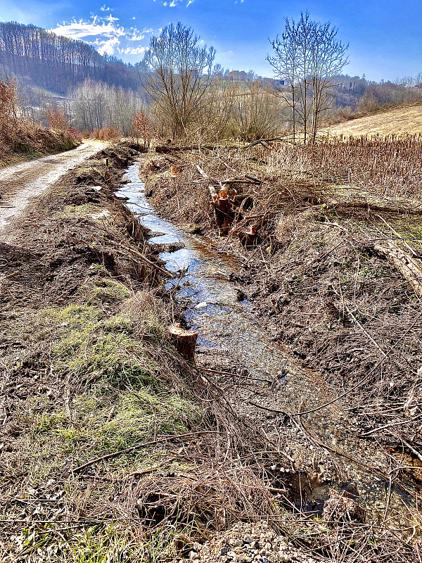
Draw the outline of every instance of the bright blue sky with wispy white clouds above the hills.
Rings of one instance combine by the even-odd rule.
[[[132,63],[151,34],[179,20],[217,49],[224,67],[267,76],[268,38],[306,10],[339,27],[350,44],[348,74],[394,80],[422,72],[421,0],[0,0],[2,21],[33,23]]]

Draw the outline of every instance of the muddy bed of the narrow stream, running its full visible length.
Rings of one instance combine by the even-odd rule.
[[[303,487],[300,486],[300,508],[319,512],[333,491],[348,491],[373,516],[383,517],[388,499],[390,515],[395,512],[400,523],[407,524],[402,501],[410,506],[411,498],[399,488],[392,487],[390,492],[385,453],[357,438],[341,401],[300,419],[295,417],[298,424],[288,424],[286,417],[274,412],[312,410],[328,403],[335,393],[319,374],[271,341],[270,334],[258,326],[250,303],[239,301],[242,296],[229,281],[230,274],[238,269],[236,260],[219,253],[212,241],[186,234],[160,218],[146,198],[139,164],[130,166],[126,176],[127,184],[116,195],[127,198],[127,207],[139,217],[143,227],[150,229],[153,236],[148,242],[179,248],[160,253],[160,258],[167,270],[179,273],[177,279],[168,283],[177,284],[177,298],[188,303],[186,323],[199,332],[198,358],[201,353],[214,353],[216,358],[226,355],[231,365],[236,366],[239,379],[244,375],[248,381],[254,381],[253,386],[239,385],[235,390],[232,386],[230,403],[240,415],[262,427],[287,453],[281,455],[286,468],[290,457],[298,474],[306,475]],[[321,450],[318,442],[345,456]],[[346,456],[378,471],[365,469]]]

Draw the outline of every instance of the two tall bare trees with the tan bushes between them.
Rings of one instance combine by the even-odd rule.
[[[347,64],[347,46],[337,33],[330,23],[310,20],[309,13],[302,14],[297,24],[286,19],[285,31],[271,42],[274,53],[268,61],[287,87],[273,91],[277,96],[270,101],[269,86],[255,82],[250,88],[216,80],[221,73],[213,66],[215,50],[200,44],[191,28],[169,25],[160,37],[151,38],[139,65],[143,87],[156,118],[173,137],[198,131],[206,122],[214,133],[259,137],[269,132],[270,123],[275,133],[274,123],[281,124],[279,118],[290,108],[293,136],[300,127],[305,140],[308,134],[314,139],[321,115],[331,104],[335,78]]]

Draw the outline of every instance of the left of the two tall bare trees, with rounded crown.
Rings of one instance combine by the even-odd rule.
[[[207,103],[215,49],[201,46],[191,27],[168,25],[151,37],[141,69],[144,86],[159,110],[170,118],[172,135],[184,137]]]

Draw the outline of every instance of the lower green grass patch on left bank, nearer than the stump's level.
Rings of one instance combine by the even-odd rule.
[[[156,435],[183,434],[198,417],[191,403],[162,389],[139,388],[136,395],[121,391],[117,396],[84,393],[72,401],[71,417],[65,410],[41,411],[35,417],[30,441],[37,444],[45,464],[43,469],[39,460],[34,463],[34,479],[44,479],[68,457],[82,463],[153,441]],[[115,469],[127,467],[145,455],[134,450],[108,464]]]

